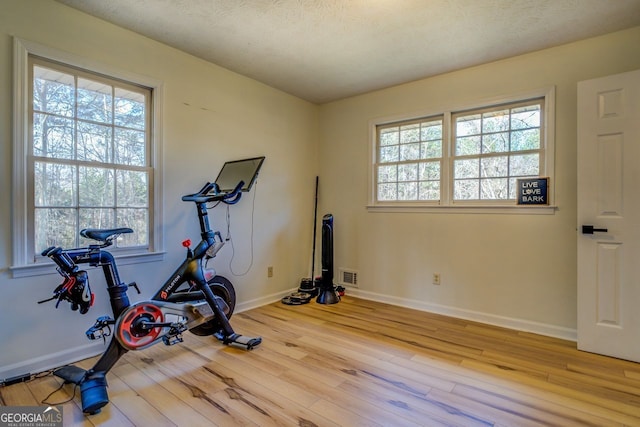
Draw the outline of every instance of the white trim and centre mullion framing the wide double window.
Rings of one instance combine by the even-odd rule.
[[[449,150],[444,161],[449,162],[446,168],[446,176],[442,177],[441,191],[442,200],[437,202],[379,202],[376,200],[376,173],[375,164],[377,160],[377,127],[380,125],[396,123],[405,120],[412,120],[420,117],[443,116],[443,123],[451,123],[451,115],[457,111],[474,110],[491,105],[509,104],[526,99],[544,98],[544,141],[545,145],[541,149],[544,151],[545,177],[549,177],[549,205],[532,206],[516,205],[515,201],[465,201],[455,203],[450,200],[450,185],[452,182],[453,155],[451,153],[452,144],[450,142],[450,125],[443,126],[443,149]],[[557,210],[555,205],[555,86],[534,89],[527,92],[515,93],[508,96],[484,99],[478,102],[447,106],[446,108],[429,111],[419,111],[412,114],[402,114],[375,118],[369,121],[369,179],[368,181],[368,204],[369,212],[425,212],[425,213],[479,213],[479,214],[544,214],[552,215]]]

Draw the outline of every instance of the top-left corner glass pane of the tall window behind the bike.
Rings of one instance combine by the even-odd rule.
[[[75,106],[74,77],[57,70],[33,67],[33,109],[72,117]]]

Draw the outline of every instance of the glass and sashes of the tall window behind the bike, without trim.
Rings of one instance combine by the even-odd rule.
[[[29,64],[34,252],[86,245],[82,228],[130,227],[116,245],[148,247],[151,90],[33,57]]]

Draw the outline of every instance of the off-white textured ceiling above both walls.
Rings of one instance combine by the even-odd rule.
[[[57,1],[314,103],[640,25],[640,0]]]

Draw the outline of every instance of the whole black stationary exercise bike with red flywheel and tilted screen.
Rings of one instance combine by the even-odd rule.
[[[185,202],[194,202],[198,211],[202,240],[191,248],[191,242],[183,242],[186,259],[147,301],[130,304],[127,296],[133,287],[140,293],[135,282],[125,284],[120,280],[113,255],[105,250],[115,239],[127,233],[130,228],[84,229],[80,235],[96,243],[77,249],[50,247],[42,252],[58,266],[58,272],[64,281],[55,290],[52,298],[56,307],[61,301],[68,301],[72,310],[86,314],[93,305],[94,295],[89,287],[88,275],[80,270],[79,264],[102,267],[113,317],[99,317],[87,330],[89,339],[103,339],[113,335],[105,352],[93,368],[84,370],[76,366],[64,366],[53,372],[65,383],[80,386],[82,411],[95,414],[109,403],[106,374],[115,363],[129,350],[142,350],[159,342],[174,345],[182,342],[182,333],[212,335],[226,345],[251,350],[262,342],[260,337],[247,337],[236,333],[229,318],[233,314],[236,294],[233,285],[226,278],[216,275],[215,271],[205,268],[203,260],[216,256],[224,245],[219,231],[211,229],[208,220],[208,205],[214,203],[235,204],[242,191],[248,191],[256,179],[262,165],[262,158],[227,162],[216,179],[216,183],[207,183],[195,194],[182,197]],[[223,172],[228,171],[225,176]],[[228,181],[249,173],[250,184],[245,186],[241,180],[232,190],[221,190],[218,182]],[[222,177],[222,180],[221,180]],[[237,182],[237,181],[236,181]]]

